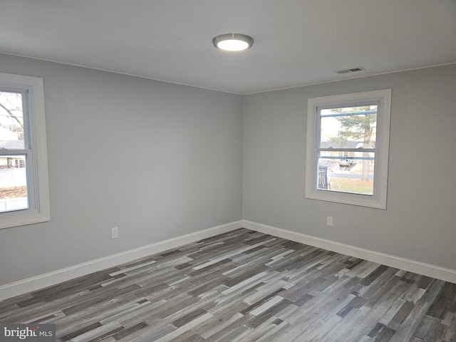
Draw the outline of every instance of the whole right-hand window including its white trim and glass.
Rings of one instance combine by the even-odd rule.
[[[309,98],[306,198],[386,209],[391,90]]]

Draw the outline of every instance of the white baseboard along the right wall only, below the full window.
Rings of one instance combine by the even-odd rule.
[[[339,242],[333,242],[331,240],[321,239],[318,237],[312,237],[310,235],[301,234],[298,232],[291,232],[286,229],[271,227],[266,224],[260,224],[257,222],[244,220],[242,222],[242,226],[246,229],[251,229],[256,232],[273,235],[274,237],[289,239],[291,241],[300,242],[301,244],[309,244],[310,246],[327,249],[331,252],[346,254],[351,257],[373,261],[385,266],[394,267],[396,269],[403,269],[404,271],[409,271],[417,274],[423,274],[424,276],[430,276],[432,278],[450,281],[451,283],[456,284],[456,270],[454,269],[445,269],[444,267],[425,264],[420,261],[414,261],[401,257],[395,257],[393,255],[380,252],[374,252],[368,249],[354,247],[348,244],[341,244]]]

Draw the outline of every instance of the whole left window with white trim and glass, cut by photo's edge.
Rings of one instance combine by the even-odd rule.
[[[43,79],[0,73],[0,229],[49,212]]]

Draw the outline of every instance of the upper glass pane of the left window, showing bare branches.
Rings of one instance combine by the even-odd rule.
[[[24,150],[22,94],[0,92],[0,148]]]

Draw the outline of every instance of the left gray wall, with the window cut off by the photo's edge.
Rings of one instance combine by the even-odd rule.
[[[5,55],[0,72],[44,80],[51,197],[51,222],[0,230],[0,285],[242,218],[242,96]]]

